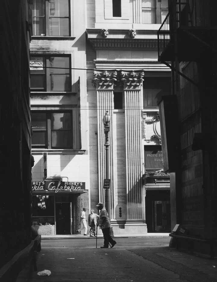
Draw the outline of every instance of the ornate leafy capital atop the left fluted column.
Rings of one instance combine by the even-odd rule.
[[[113,89],[115,82],[117,81],[117,72],[107,72],[106,70],[99,72],[95,71],[93,75],[93,85],[96,88],[109,88]]]

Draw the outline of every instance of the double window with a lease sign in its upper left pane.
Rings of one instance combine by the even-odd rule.
[[[32,91],[71,91],[69,57],[32,56],[30,74]]]

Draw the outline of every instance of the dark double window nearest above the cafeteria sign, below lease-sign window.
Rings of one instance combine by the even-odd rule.
[[[32,112],[32,147],[71,149],[72,115],[70,112]]]

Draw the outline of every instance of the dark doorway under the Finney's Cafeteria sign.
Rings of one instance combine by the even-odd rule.
[[[56,203],[56,234],[71,234],[70,203]]]

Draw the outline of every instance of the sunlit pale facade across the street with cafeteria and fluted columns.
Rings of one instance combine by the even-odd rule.
[[[102,120],[108,111],[106,208],[113,233],[170,231],[155,98],[171,91],[170,69],[157,61],[157,30],[167,7],[166,1],[89,0],[79,8],[74,1],[35,1],[30,50],[38,229],[75,234],[81,208],[87,215],[105,203]],[[67,230],[58,223],[66,221],[63,210]]]

